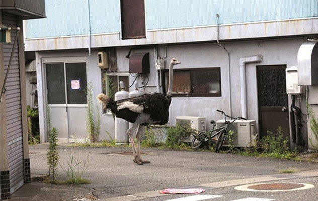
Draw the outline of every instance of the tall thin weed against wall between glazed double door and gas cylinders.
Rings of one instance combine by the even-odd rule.
[[[100,133],[100,116],[98,113],[98,106],[96,106],[96,112],[93,111],[93,85],[88,83],[87,85],[87,109],[86,109],[86,131],[89,133],[89,139],[92,142],[96,142]]]

